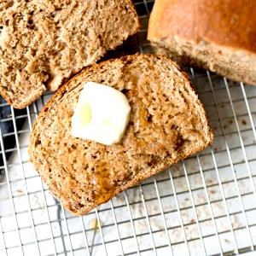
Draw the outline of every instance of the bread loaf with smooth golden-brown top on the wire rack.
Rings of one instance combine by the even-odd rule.
[[[256,1],[156,0],[148,39],[160,52],[256,84]]]

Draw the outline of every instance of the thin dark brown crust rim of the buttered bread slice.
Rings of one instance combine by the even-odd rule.
[[[136,55],[125,55],[125,56],[122,56],[121,58],[119,58],[119,60],[125,62],[127,59],[132,58],[132,57],[137,56],[137,55],[140,55],[140,54],[137,53]],[[155,56],[158,56],[158,55],[147,54],[146,56],[149,56],[149,57],[150,57],[150,56],[154,56],[154,57],[155,57]],[[166,59],[166,60],[168,60],[168,61],[172,61],[172,60],[170,60],[169,58],[167,58],[167,57],[164,56],[164,55],[159,55],[159,57],[162,58],[162,59]],[[29,143],[29,148],[28,148],[28,154],[31,156],[32,164],[33,164],[35,167],[36,167],[36,164],[33,162],[33,157],[32,157],[32,152],[33,152],[32,138],[33,138],[33,137],[35,136],[35,134],[36,134],[36,127],[37,127],[37,124],[40,123],[40,120],[41,120],[41,119],[45,119],[45,117],[47,116],[46,113],[47,113],[48,109],[51,107],[52,104],[55,103],[55,100],[56,100],[56,99],[61,98],[61,96],[63,96],[63,95],[68,91],[69,86],[72,85],[74,79],[76,79],[76,78],[78,78],[79,76],[83,75],[83,73],[90,72],[90,70],[93,70],[95,67],[100,68],[100,67],[102,67],[103,65],[105,65],[106,63],[108,63],[108,62],[113,62],[113,61],[115,61],[115,59],[111,59],[111,60],[108,60],[108,61],[102,61],[102,62],[99,63],[99,64],[96,64],[96,63],[95,63],[95,64],[91,65],[90,67],[85,67],[80,73],[78,73],[77,75],[75,75],[75,76],[73,77],[73,79],[69,80],[66,84],[63,84],[63,85],[61,86],[61,88],[55,93],[55,95],[52,96],[52,98],[49,100],[49,102],[47,102],[46,105],[44,105],[44,108],[41,110],[41,112],[40,112],[39,115],[38,115],[38,119],[34,122],[34,124],[33,124],[33,126],[32,126],[32,133],[31,133],[30,143]],[[194,87],[194,85],[192,85],[192,84],[190,83],[190,80],[189,80],[189,77],[188,77],[187,73],[183,72],[183,71],[181,70],[181,68],[177,66],[177,63],[176,63],[176,62],[174,62],[174,61],[172,61],[172,62],[173,62],[174,65],[177,67],[178,71],[180,71],[180,72],[182,73],[182,75],[184,76],[184,78],[189,81],[189,84],[190,84],[191,89],[194,90],[195,95],[197,95],[196,90],[195,90],[195,87]],[[198,95],[197,95],[197,96],[198,96]],[[199,99],[197,99],[197,102],[196,102],[196,103],[201,107],[201,109],[203,110],[203,114],[205,115],[205,117],[206,117],[206,119],[207,119],[207,115],[206,115],[206,112],[205,112],[205,110],[204,110],[204,108],[203,108],[203,105],[202,105],[201,101],[200,101]],[[129,188],[131,188],[132,186],[137,185],[137,183],[140,183],[140,182],[143,181],[145,178],[151,177],[151,176],[153,176],[153,175],[155,175],[155,174],[157,174],[157,173],[159,173],[159,172],[164,171],[167,167],[172,166],[172,165],[176,164],[177,162],[179,162],[179,161],[181,161],[181,160],[184,160],[185,158],[189,157],[190,155],[195,154],[195,153],[197,153],[197,152],[199,152],[199,151],[204,150],[205,148],[207,148],[210,144],[212,144],[212,141],[213,141],[213,133],[212,133],[211,126],[209,125],[209,120],[208,120],[208,119],[207,119],[207,131],[208,131],[208,137],[209,137],[208,142],[207,142],[205,145],[203,145],[201,148],[196,148],[196,149],[191,148],[189,154],[183,154],[183,155],[181,155],[181,158],[178,159],[178,160],[173,161],[172,164],[169,164],[169,163],[166,161],[166,162],[163,163],[163,165],[160,167],[160,169],[154,170],[154,172],[148,172],[148,173],[144,172],[144,174],[145,174],[144,176],[142,176],[142,177],[137,177],[137,179],[135,179],[135,180],[128,181],[128,183],[126,183],[126,184],[122,187],[122,189],[117,188],[117,189],[115,190],[115,192],[113,193],[113,196],[118,195],[120,192],[125,191],[126,189],[129,189]],[[40,175],[40,173],[39,173],[39,175]],[[42,177],[42,179],[44,180],[44,177]],[[44,180],[44,183],[46,183],[46,180]],[[50,189],[50,187],[49,187],[49,190],[50,190],[50,192],[51,192],[53,195],[55,195],[55,191],[54,191],[53,189]],[[57,195],[55,195],[55,197],[59,200],[59,198],[58,198]],[[62,202],[63,202],[64,207],[67,208],[67,210],[68,210],[69,212],[73,213],[73,215],[78,215],[78,216],[84,215],[84,214],[90,212],[91,210],[93,210],[94,208],[96,208],[96,207],[98,206],[97,204],[95,204],[95,205],[93,205],[92,207],[81,207],[78,212],[74,212],[74,211],[73,211],[73,208],[72,208],[69,204],[65,203],[64,201],[62,201]],[[104,201],[104,202],[107,202],[107,201]]]

